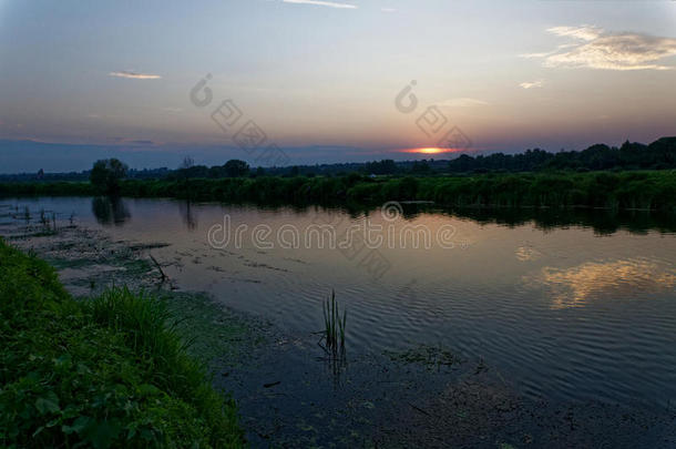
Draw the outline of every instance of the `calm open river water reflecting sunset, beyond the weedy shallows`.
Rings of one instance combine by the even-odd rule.
[[[407,225],[424,225],[433,236],[450,225],[454,233],[430,248],[386,243],[377,253],[381,269],[375,269],[369,248],[304,242],[283,248],[275,238],[289,225],[301,239],[311,224],[346,229],[362,224],[363,214],[164,200],[0,203],[53,210],[60,220],[74,214],[75,223],[102,226],[116,238],[171,243],[152,254],[172,264],[165,271],[181,288],[209,292],[288,331],[319,330],[321,300],[335,288],[348,309],[352,354],[441,344],[482,357],[532,398],[645,407],[676,401],[676,234],[668,218],[615,223],[600,215],[588,221],[594,229],[576,224],[586,218],[552,214],[536,224],[528,213],[503,213],[491,223],[485,214],[477,221],[406,206],[404,217],[388,221],[378,210],[368,214],[371,224],[392,227],[397,242]],[[248,229],[240,247],[233,239],[213,248],[208,229],[226,215],[232,233],[242,224]],[[269,226],[264,239],[275,247],[254,244],[256,225]]]

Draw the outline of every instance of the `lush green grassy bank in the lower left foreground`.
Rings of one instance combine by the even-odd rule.
[[[0,446],[243,446],[166,310],[126,289],[75,300],[0,239]]]

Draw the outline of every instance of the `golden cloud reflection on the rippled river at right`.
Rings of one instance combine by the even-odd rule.
[[[587,262],[571,268],[544,267],[526,283],[544,284],[552,292],[552,308],[583,307],[602,296],[627,297],[636,292],[668,292],[676,273],[645,258]]]

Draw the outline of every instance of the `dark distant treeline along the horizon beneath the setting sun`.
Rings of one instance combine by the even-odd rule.
[[[676,137],[662,137],[649,145],[625,142],[622,146],[592,145],[583,151],[528,150],[519,154],[494,153],[470,156],[462,154],[451,161],[381,160],[366,163],[294,165],[283,167],[250,167],[244,161],[231,160],[223,165],[195,165],[192,160],[176,170],[129,170],[127,180],[224,178],[238,176],[342,176],[350,173],[366,175],[428,176],[444,173],[519,173],[542,171],[606,171],[606,170],[667,170],[676,169]],[[23,173],[0,175],[0,182],[86,181],[91,171],[80,173]]]

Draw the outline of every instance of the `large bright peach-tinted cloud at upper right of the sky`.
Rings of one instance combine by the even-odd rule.
[[[670,70],[656,61],[676,55],[676,39],[643,33],[610,33],[597,27],[554,27],[552,34],[573,39],[543,53],[521,54],[543,59],[549,68],[586,68],[600,70]],[[524,88],[528,89],[528,88]]]

